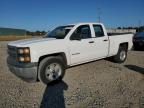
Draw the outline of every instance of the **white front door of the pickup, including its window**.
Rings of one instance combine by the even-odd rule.
[[[72,37],[78,36],[79,39]],[[91,29],[89,25],[79,26],[71,36],[70,39],[70,55],[71,64],[79,64],[92,59],[94,51],[94,39],[91,36]]]

